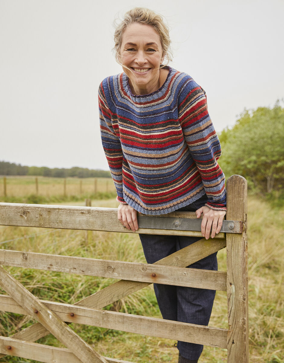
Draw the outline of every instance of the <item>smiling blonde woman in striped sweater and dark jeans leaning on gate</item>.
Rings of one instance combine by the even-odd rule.
[[[214,238],[226,214],[221,148],[203,89],[185,73],[163,65],[169,31],[162,17],[133,8],[115,31],[116,59],[124,73],[99,87],[100,129],[114,180],[118,219],[137,231],[137,211],[159,215],[196,211],[202,235]],[[140,234],[148,263],[199,238]],[[188,267],[217,270],[216,254]],[[164,319],[207,325],[215,291],[154,284]],[[180,363],[194,363],[199,344],[178,342]]]

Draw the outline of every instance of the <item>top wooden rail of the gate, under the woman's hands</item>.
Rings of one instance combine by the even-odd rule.
[[[176,216],[176,212],[173,213]],[[185,213],[184,217],[187,218],[189,212],[179,213]],[[171,217],[171,213],[168,213],[166,216]],[[190,216],[192,216],[191,213]],[[152,216],[152,218],[155,217]],[[136,232],[128,231],[118,221],[117,208],[0,203],[0,224],[24,227],[86,229],[90,231],[202,237],[201,232],[198,231],[150,228],[139,228]],[[225,238],[225,233],[220,232],[215,238]]]

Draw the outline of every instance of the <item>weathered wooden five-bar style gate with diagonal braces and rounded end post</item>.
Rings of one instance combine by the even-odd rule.
[[[202,238],[201,220],[196,219],[195,213],[139,216],[139,230],[134,233],[201,237],[152,265],[0,250],[1,265],[120,279],[70,305],[41,301],[0,266],[0,286],[7,293],[0,295],[0,310],[27,314],[38,321],[11,337],[0,337],[0,357],[15,355],[46,363],[127,363],[100,356],[69,327],[68,323],[76,322],[226,348],[227,362],[248,363],[247,184],[239,175],[227,180],[226,218],[221,232],[206,240]],[[125,232],[115,208],[0,203],[0,224]],[[225,247],[227,272],[185,268]],[[101,310],[153,282],[227,291],[229,329]],[[67,349],[34,343],[49,333]]]

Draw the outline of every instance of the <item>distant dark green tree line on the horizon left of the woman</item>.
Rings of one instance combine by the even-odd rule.
[[[111,178],[107,170],[95,170],[88,168],[48,168],[46,166],[24,166],[16,163],[0,161],[0,175],[30,175],[30,176],[50,176],[53,178]]]

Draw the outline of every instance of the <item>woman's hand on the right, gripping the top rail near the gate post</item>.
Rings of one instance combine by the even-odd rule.
[[[206,240],[208,240],[212,227],[211,238],[214,238],[215,234],[218,234],[220,232],[226,211],[214,211],[214,209],[204,206],[197,209],[195,213],[197,218],[200,218],[201,213],[203,213],[203,218],[201,222],[202,236],[205,237]]]

